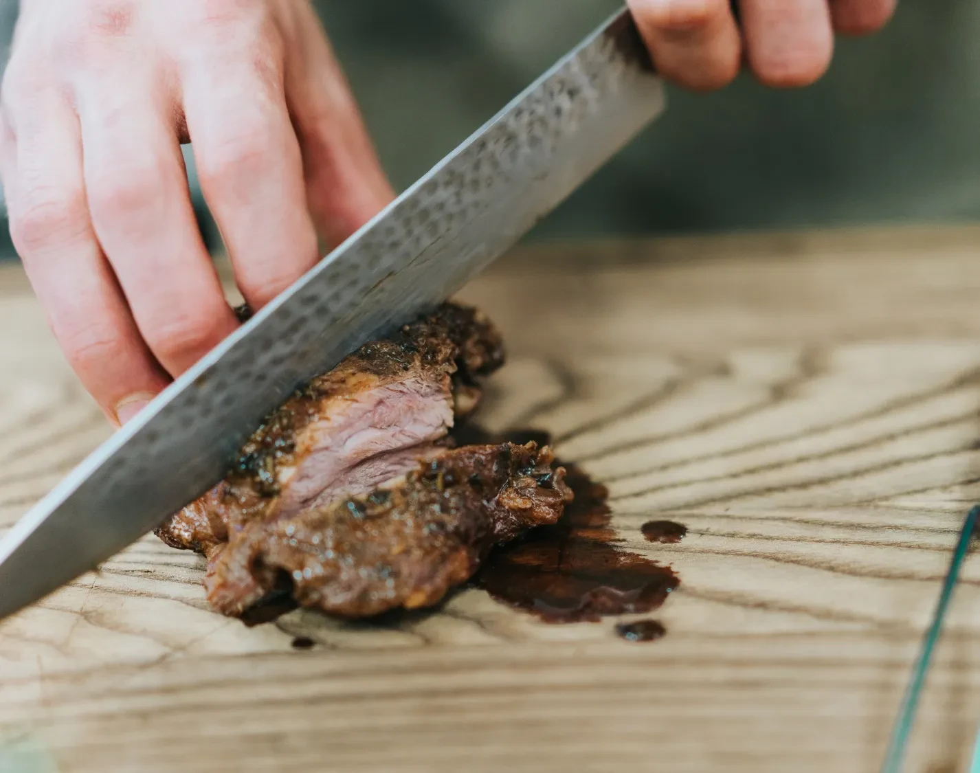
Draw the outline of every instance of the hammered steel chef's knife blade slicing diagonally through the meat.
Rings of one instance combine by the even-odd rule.
[[[663,106],[621,11],[31,508],[0,542],[0,617],[200,496],[297,386],[450,297]]]

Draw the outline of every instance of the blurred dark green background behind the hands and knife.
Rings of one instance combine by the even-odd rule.
[[[317,5],[402,189],[620,3]],[[15,16],[8,0],[8,33]],[[662,119],[529,238],[976,219],[978,39],[980,3],[900,0],[882,33],[838,39],[807,89],[745,75],[711,95],[671,89]],[[204,228],[214,243],[207,217]]]

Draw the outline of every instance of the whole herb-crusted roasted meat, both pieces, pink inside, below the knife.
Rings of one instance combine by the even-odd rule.
[[[547,448],[451,448],[502,363],[493,325],[445,304],[314,378],[156,533],[208,556],[208,598],[226,614],[284,582],[345,616],[433,604],[570,499]]]

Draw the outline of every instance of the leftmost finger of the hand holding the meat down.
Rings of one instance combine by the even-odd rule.
[[[170,382],[140,337],[89,217],[77,119],[40,97],[4,141],[11,235],[48,323],[85,389],[111,421]],[[24,121],[27,121],[26,125]]]

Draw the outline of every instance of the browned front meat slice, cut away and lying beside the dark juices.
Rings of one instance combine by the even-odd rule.
[[[369,494],[252,520],[214,551],[208,600],[241,615],[285,583],[348,617],[435,604],[493,545],[558,520],[571,492],[553,462],[533,442],[441,449]]]

